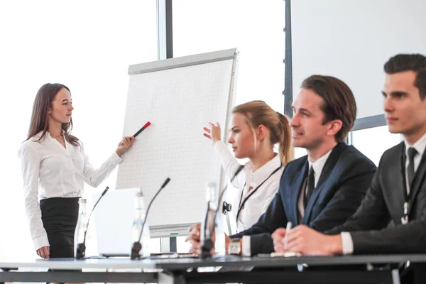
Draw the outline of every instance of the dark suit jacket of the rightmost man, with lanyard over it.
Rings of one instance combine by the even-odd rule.
[[[383,153],[361,207],[342,226],[327,234],[350,231],[354,253],[426,253],[426,152],[410,187],[408,224],[403,225],[405,202],[405,145]],[[392,226],[388,226],[393,221]]]

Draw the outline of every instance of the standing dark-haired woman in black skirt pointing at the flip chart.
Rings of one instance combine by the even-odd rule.
[[[116,151],[94,169],[80,140],[71,135],[72,99],[63,84],[44,84],[33,104],[28,138],[21,144],[25,209],[31,237],[42,258],[74,257],[78,199],[84,182],[97,187],[135,141],[124,137]]]

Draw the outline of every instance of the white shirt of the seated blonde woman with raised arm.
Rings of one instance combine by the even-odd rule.
[[[214,148],[219,153],[226,176],[231,179],[240,166],[238,160],[234,158],[234,155],[222,141],[214,143]],[[278,168],[279,170],[277,170]],[[277,171],[273,173],[275,170]],[[268,163],[258,168],[254,173],[251,164],[246,163],[244,169],[231,182],[238,189],[234,202],[231,203],[232,212],[234,212],[235,216],[239,209],[240,201],[242,203],[252,193],[252,190],[255,190],[263,182],[263,185],[246,200],[243,209],[241,209],[238,220],[236,220],[237,232],[249,229],[266,212],[273,197],[278,192],[283,170],[284,167],[281,165],[280,155],[275,155],[272,160],[269,160]],[[271,175],[272,173],[273,175]],[[271,177],[268,178],[270,175]],[[250,187],[252,187],[252,190],[249,191]]]

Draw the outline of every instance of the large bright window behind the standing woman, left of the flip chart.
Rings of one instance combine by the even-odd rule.
[[[25,9],[23,9],[25,6]],[[17,149],[35,93],[46,82],[70,87],[72,132],[93,165],[113,153],[123,133],[129,65],[157,59],[156,1],[2,1],[0,121],[1,256],[35,256],[23,207]],[[5,174],[7,173],[7,174]],[[100,185],[115,187],[116,173]],[[91,188],[87,187],[86,191]]]

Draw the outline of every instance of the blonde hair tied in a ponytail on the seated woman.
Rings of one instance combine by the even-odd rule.
[[[263,125],[269,129],[269,140],[274,145],[280,143],[279,154],[283,165],[293,160],[294,153],[291,146],[291,128],[287,116],[274,111],[263,101],[246,102],[232,109],[232,113],[242,114],[246,117],[247,124],[254,131]],[[256,139],[256,136],[254,136]],[[255,140],[256,143],[256,140]]]

